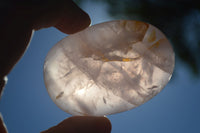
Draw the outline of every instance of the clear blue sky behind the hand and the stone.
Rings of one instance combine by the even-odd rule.
[[[82,8],[92,25],[113,20],[104,4],[90,1]],[[43,80],[45,57],[65,36],[55,28],[36,31],[23,58],[8,75],[0,111],[9,133],[38,133],[71,116],[53,103]],[[172,79],[161,93],[135,109],[107,116],[112,133],[199,133],[199,94],[200,79],[177,59]]]

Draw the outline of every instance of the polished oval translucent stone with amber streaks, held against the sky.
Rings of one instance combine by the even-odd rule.
[[[156,27],[139,21],[91,26],[58,42],[44,64],[47,91],[72,115],[108,115],[135,108],[171,78],[174,52]]]

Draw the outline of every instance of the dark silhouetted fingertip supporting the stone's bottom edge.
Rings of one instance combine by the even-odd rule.
[[[42,133],[110,133],[111,123],[106,117],[73,116]]]

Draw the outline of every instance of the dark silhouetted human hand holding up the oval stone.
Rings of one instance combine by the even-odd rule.
[[[0,96],[6,84],[5,77],[25,52],[33,30],[54,26],[71,34],[90,24],[89,16],[71,0],[4,1],[0,16]],[[105,117],[70,117],[43,133],[107,133],[111,123]],[[0,132],[6,133],[0,117]]]

